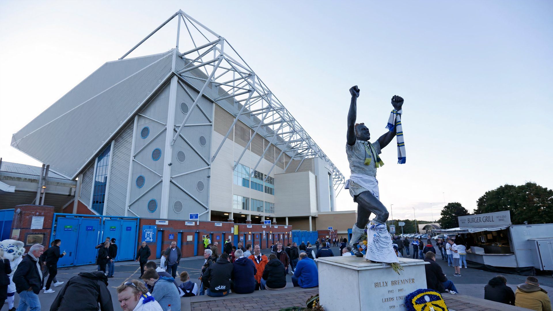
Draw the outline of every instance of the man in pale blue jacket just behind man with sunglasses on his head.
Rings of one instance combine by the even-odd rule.
[[[173,284],[174,278],[160,277],[154,269],[147,269],[144,271],[142,279],[154,288],[152,296],[161,305],[163,311],[166,311],[169,305],[171,306],[171,310],[180,310],[180,294]]]

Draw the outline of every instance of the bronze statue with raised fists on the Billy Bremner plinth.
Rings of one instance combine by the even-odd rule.
[[[377,168],[384,165],[378,154],[396,135],[396,127],[380,136],[377,141],[370,143],[371,133],[364,123],[355,123],[357,120],[357,97],[359,88],[353,86],[349,89],[351,93],[351,104],[347,118],[347,144],[346,153],[351,170],[351,177],[346,182],[346,189],[357,203],[357,222],[353,225],[352,239],[349,241],[355,255],[362,257],[363,254],[357,250],[357,242],[368,224],[371,213],[375,214],[372,220],[373,227],[385,228],[385,221],[388,220],[388,210],[379,200],[378,180],[376,179]],[[392,106],[396,114],[401,114],[403,98],[394,95]],[[394,112],[393,112],[394,113]],[[399,144],[398,144],[399,146]],[[399,163],[399,162],[398,162]],[[403,162],[404,163],[404,160]],[[389,236],[389,234],[388,234]],[[367,253],[369,250],[367,250]]]

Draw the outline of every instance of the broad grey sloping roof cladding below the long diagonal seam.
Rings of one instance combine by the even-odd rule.
[[[14,142],[13,146],[49,163],[56,172],[72,177],[106,146],[113,133],[132,117],[170,71],[171,55]]]

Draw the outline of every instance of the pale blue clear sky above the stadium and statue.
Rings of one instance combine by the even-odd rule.
[[[372,139],[403,96],[407,163],[393,142],[377,176],[395,219],[437,219],[444,201],[472,211],[505,183],[553,186],[551,1],[4,0],[0,157],[40,165],[12,133],[178,9],[225,37],[346,176],[349,87]],[[129,57],[174,48],[175,29]],[[337,206],[357,207],[347,190]]]

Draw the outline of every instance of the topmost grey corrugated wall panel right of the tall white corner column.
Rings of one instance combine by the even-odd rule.
[[[191,87],[187,85],[185,85],[185,87],[186,90],[190,92],[190,95],[194,96],[194,99],[191,99],[190,96],[186,94],[185,90],[182,89],[182,86],[179,85],[177,87],[175,125],[181,125],[187,115],[190,115],[190,117],[186,120],[186,124],[211,123],[210,119],[213,114],[213,103],[202,96],[197,103],[197,107],[195,107],[194,110],[190,110],[190,108],[192,108],[192,104],[194,104],[194,100],[196,99],[198,92],[191,89]],[[206,113],[207,116],[210,117],[210,119],[206,118],[204,113],[200,111],[199,107]]]

